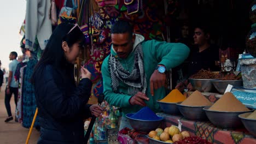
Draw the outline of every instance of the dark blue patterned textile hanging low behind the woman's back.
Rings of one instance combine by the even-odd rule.
[[[30,128],[31,123],[33,121],[34,113],[36,112],[36,98],[34,95],[34,89],[32,83],[30,82],[31,76],[33,74],[33,69],[37,64],[36,59],[31,59],[27,62],[26,74],[24,79],[24,89],[22,95],[22,117],[23,122],[22,126],[25,128]],[[34,123],[34,127],[39,128],[38,118],[36,118],[36,122]]]

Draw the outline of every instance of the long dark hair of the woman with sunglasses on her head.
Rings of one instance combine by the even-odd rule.
[[[34,83],[36,73],[42,71],[45,65],[50,64],[53,65],[53,67],[60,67],[60,65],[67,63],[65,53],[62,49],[63,41],[67,42],[68,47],[72,47],[75,43],[79,43],[79,45],[83,47],[82,45],[84,45],[85,41],[84,34],[78,26],[69,32],[73,27],[74,25],[71,23],[61,23],[54,29],[42,57],[34,68],[34,72],[31,77],[32,83]]]

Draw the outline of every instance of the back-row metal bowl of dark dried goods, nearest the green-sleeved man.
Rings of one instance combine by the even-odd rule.
[[[197,91],[200,92],[214,92],[216,89],[214,88],[212,81],[219,79],[189,79],[189,82]]]

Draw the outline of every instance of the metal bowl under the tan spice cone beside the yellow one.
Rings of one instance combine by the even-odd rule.
[[[179,111],[182,115],[194,121],[205,121],[207,120],[207,116],[203,107],[205,106],[188,106],[188,105],[181,105],[182,102],[177,103]]]

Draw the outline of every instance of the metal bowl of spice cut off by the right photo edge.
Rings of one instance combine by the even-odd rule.
[[[238,117],[241,118],[241,121],[242,121],[243,125],[249,131],[249,133],[256,136],[256,127],[255,127],[256,119],[246,118],[251,113],[252,112],[243,113],[243,114],[238,115]]]

